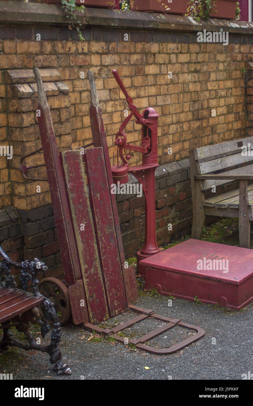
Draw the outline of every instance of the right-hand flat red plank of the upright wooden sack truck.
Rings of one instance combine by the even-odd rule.
[[[101,147],[86,149],[84,160],[108,309],[112,317],[126,310],[128,306],[103,149]]]

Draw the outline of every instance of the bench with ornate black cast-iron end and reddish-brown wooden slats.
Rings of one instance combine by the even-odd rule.
[[[54,365],[54,371],[58,375],[70,375],[71,369],[62,362],[59,349],[61,339],[61,326],[58,320],[54,304],[39,293],[37,273],[48,268],[45,263],[35,258],[33,261],[17,263],[12,261],[0,246],[0,255],[3,257],[0,263],[0,329],[3,329],[0,341],[0,352],[8,350],[9,346],[16,346],[23,350],[40,350],[47,352],[50,362]],[[14,276],[11,275],[11,266],[20,269],[21,289],[16,288]],[[27,292],[28,281],[32,281],[33,294]],[[39,305],[39,309],[37,306]],[[30,325],[35,322],[41,326],[41,336],[44,338],[50,330],[48,322],[52,322],[51,342],[48,346],[37,344],[30,332]],[[17,331],[26,335],[28,343],[16,339],[11,331],[15,326]]]

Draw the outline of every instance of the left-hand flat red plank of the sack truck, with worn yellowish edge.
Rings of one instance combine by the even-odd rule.
[[[109,317],[80,151],[61,153],[90,323]]]

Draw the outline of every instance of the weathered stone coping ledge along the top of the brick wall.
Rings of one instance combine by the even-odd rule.
[[[87,7],[84,13],[76,12],[78,20],[85,26],[114,28],[138,28],[162,31],[198,32],[204,28],[219,31],[221,28],[231,33],[251,34],[250,22],[208,19],[200,23],[192,17],[163,13],[141,13],[137,11],[117,11]],[[18,3],[0,1],[0,23],[48,24],[67,26],[63,10],[55,4]]]

